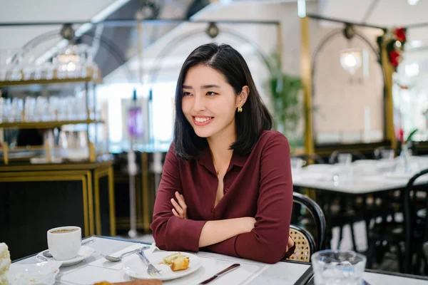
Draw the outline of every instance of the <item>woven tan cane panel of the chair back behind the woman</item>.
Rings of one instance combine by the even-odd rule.
[[[306,229],[291,224],[290,237],[295,243],[295,251],[287,260],[310,262],[310,257],[315,252],[315,241],[312,234]]]

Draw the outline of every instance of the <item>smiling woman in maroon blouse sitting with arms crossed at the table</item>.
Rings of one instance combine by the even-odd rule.
[[[267,263],[290,256],[290,146],[270,130],[243,56],[216,43],[190,53],[175,115],[151,224],[156,245]]]

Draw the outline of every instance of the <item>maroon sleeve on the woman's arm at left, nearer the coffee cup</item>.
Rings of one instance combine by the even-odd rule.
[[[162,179],[153,209],[151,230],[156,246],[160,249],[198,252],[200,232],[205,221],[175,217],[172,212],[173,205],[170,202],[170,199],[175,197],[175,191],[183,193],[178,159],[175,157],[171,145],[163,165]]]

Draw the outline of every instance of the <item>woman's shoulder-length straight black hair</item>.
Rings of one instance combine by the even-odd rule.
[[[272,128],[272,118],[255,88],[250,69],[243,56],[228,44],[217,43],[208,43],[196,48],[185,59],[181,68],[175,90],[175,155],[185,160],[198,157],[200,151],[208,145],[206,138],[200,138],[195,134],[181,107],[185,76],[190,68],[201,64],[222,73],[237,95],[243,86],[250,88],[243,112],[235,115],[236,141],[230,145],[234,154],[247,155],[253,150],[263,130]]]

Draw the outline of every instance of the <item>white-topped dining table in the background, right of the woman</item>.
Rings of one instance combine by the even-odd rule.
[[[428,157],[411,157],[404,170],[402,157],[393,160],[356,160],[348,164],[315,164],[292,169],[292,183],[337,195],[370,195],[401,190],[418,171],[428,168]],[[422,178],[420,182],[427,182]]]

